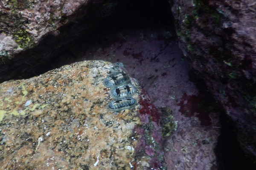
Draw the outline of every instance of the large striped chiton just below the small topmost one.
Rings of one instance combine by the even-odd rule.
[[[114,72],[105,78],[103,83],[107,88],[113,88],[119,85],[123,85],[129,81],[130,78],[127,74],[122,72]]]

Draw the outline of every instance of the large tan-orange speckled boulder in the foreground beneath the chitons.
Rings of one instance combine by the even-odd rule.
[[[134,108],[107,107],[113,66],[76,62],[0,84],[1,169],[163,169],[159,115],[145,91],[134,84]]]

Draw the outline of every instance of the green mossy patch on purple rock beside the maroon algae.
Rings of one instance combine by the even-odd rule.
[[[161,108],[161,113],[163,119],[161,120],[161,124],[163,127],[162,136],[164,138],[170,136],[173,131],[177,130],[177,121],[174,121],[174,116],[172,115],[171,108]]]

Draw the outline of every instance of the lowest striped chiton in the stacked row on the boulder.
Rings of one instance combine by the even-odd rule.
[[[136,99],[132,97],[122,97],[112,100],[108,103],[108,108],[112,111],[122,111],[125,109],[133,108],[136,105]]]

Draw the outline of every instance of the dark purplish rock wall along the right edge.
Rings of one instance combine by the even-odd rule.
[[[174,0],[183,54],[234,122],[241,147],[256,159],[256,3]]]

